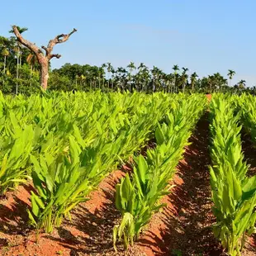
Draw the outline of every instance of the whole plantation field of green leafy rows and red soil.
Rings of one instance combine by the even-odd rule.
[[[1,255],[255,255],[256,99],[0,92]]]

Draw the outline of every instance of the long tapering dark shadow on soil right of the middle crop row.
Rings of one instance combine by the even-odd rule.
[[[178,214],[165,211],[168,228],[161,235],[165,244],[163,255],[221,255],[222,249],[211,230],[215,218],[211,213],[208,171],[211,164],[208,113],[201,117],[189,141],[192,145],[187,146],[184,159],[178,164],[183,183],[169,196]]]

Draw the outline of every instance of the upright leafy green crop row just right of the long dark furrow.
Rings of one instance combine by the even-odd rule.
[[[234,98],[211,101],[211,191],[216,216],[214,234],[229,255],[240,255],[245,234],[254,232],[256,176],[249,178],[241,147],[239,113]]]

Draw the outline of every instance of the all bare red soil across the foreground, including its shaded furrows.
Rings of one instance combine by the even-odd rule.
[[[208,167],[210,157],[208,124],[202,119],[190,139],[184,159],[178,164],[172,184],[173,192],[163,198],[166,207],[154,215],[139,241],[127,252],[112,248],[112,228],[121,218],[114,206],[115,185],[124,172],[111,173],[92,192],[91,199],[72,211],[72,221],[51,235],[40,234],[27,227],[26,207],[30,206],[31,186],[7,192],[0,200],[1,255],[225,255],[212,235],[211,191]],[[242,255],[255,255],[255,244],[246,245]]]

